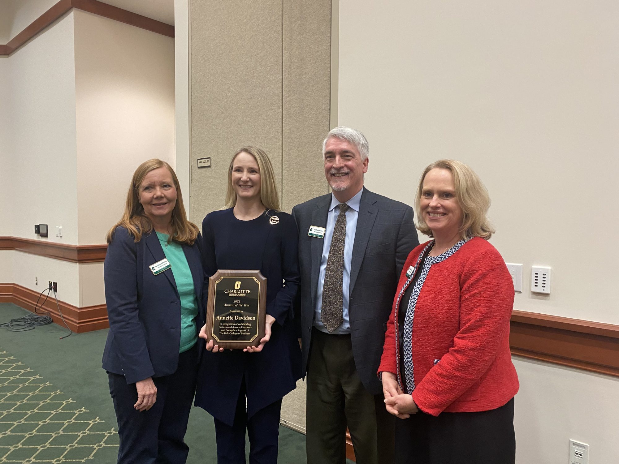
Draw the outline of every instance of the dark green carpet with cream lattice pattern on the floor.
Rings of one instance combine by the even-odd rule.
[[[28,311],[0,303],[0,323]],[[0,463],[116,462],[116,416],[101,368],[107,330],[74,333],[56,324],[0,329]],[[193,408],[189,464],[217,462],[212,417]],[[249,444],[246,446],[249,450]],[[305,436],[280,427],[279,463],[305,463]]]

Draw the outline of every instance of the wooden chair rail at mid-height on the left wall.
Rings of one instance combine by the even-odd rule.
[[[20,237],[0,237],[0,250],[17,250],[63,261],[85,263],[105,260],[108,246],[67,245],[47,240],[32,240]]]

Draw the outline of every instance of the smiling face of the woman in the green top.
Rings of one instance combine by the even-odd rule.
[[[171,221],[178,194],[170,171],[161,167],[146,174],[137,189],[137,197],[150,220],[167,218]]]

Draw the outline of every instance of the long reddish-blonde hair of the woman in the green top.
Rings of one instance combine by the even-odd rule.
[[[168,242],[174,240],[178,243],[193,245],[196,241],[199,229],[197,226],[187,220],[185,208],[183,206],[183,194],[181,194],[181,186],[178,184],[176,173],[168,163],[154,158],[144,161],[137,166],[136,171],[131,178],[131,185],[127,192],[127,200],[124,204],[123,217],[108,231],[105,236],[105,241],[110,243],[114,238],[116,228],[122,226],[134,236],[134,242],[139,242],[142,239],[142,234],[149,233],[153,229],[150,219],[144,213],[144,207],[139,201],[139,188],[142,185],[146,174],[158,168],[167,168],[170,171],[174,186],[176,187],[176,205],[172,210],[172,219],[170,226],[170,238]]]

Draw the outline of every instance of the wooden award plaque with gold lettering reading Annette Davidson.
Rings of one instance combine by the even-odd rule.
[[[209,278],[207,343],[226,350],[260,345],[264,337],[267,279],[259,270],[218,270]]]

